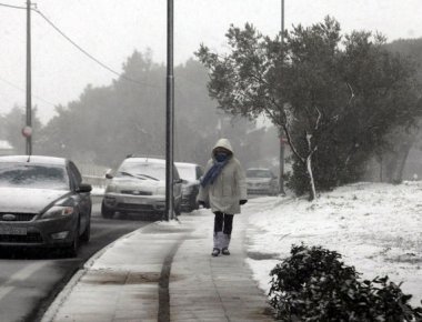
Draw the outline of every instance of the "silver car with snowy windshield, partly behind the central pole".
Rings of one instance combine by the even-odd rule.
[[[110,179],[101,204],[103,218],[115,212],[148,213],[161,219],[165,210],[165,160],[157,158],[129,157],[120,164]],[[178,169],[173,167],[174,212],[180,214],[181,185]]]

